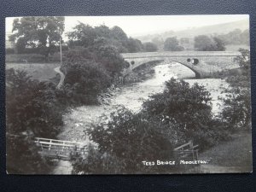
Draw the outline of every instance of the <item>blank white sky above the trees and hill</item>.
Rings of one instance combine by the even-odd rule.
[[[6,32],[12,31],[14,19],[15,17],[6,18]],[[119,26],[129,37],[136,37],[248,19],[249,15],[66,16],[65,32],[72,31],[80,21],[90,26]]]

